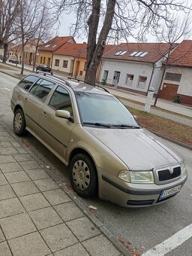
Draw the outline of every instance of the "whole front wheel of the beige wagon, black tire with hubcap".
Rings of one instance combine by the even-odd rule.
[[[71,185],[80,197],[93,197],[98,193],[98,175],[92,160],[77,154],[70,163]]]

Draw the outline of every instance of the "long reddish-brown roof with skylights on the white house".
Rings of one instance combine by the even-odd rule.
[[[174,47],[176,44],[174,44]],[[167,43],[122,43],[113,47],[112,50],[104,53],[105,59],[121,59],[136,62],[155,63],[169,50]],[[115,55],[119,51],[124,51],[123,55]],[[145,52],[145,56],[130,56],[133,52]]]

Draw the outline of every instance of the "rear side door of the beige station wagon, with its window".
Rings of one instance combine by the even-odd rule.
[[[46,97],[55,84],[40,78],[29,90],[25,97],[25,114],[28,130],[38,136],[40,117]]]

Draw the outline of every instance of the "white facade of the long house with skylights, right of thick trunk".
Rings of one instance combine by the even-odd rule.
[[[128,62],[121,60],[113,60],[113,59],[103,59],[101,66],[101,76],[100,81],[104,78],[104,70],[108,70],[108,78],[107,84],[114,85],[114,74],[115,72],[121,72],[120,78],[118,81],[118,87],[127,89],[127,90],[135,90],[140,93],[146,93],[148,91],[148,87],[154,87],[155,92],[160,84],[160,78],[162,72],[159,68],[160,62],[157,63],[157,67],[154,68],[151,63],[141,63],[141,62]],[[153,73],[153,78],[151,80],[151,75]],[[126,84],[127,74],[134,75],[132,84]],[[138,86],[139,84],[139,76],[147,77],[145,84],[142,83],[142,87]],[[151,80],[151,84],[150,83]]]

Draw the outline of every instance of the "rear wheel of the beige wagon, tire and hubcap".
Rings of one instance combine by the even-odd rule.
[[[17,136],[23,136],[26,133],[26,120],[21,108],[18,108],[14,113],[13,130]]]

